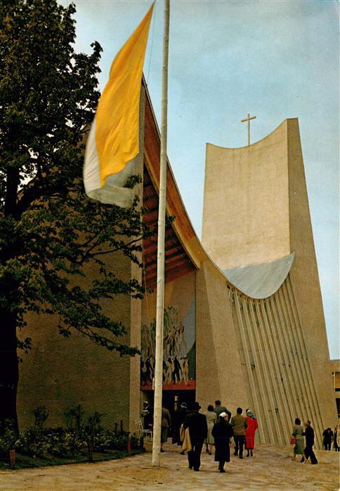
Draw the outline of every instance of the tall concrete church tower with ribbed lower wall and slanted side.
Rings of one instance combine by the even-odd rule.
[[[300,417],[313,422],[321,447],[336,406],[331,370],[321,368],[330,367],[329,353],[297,119],[249,147],[207,144],[202,240],[227,280],[228,268],[240,267],[266,281],[261,268],[294,253],[276,291],[254,298],[228,280],[230,302],[261,441],[287,442]],[[242,290],[255,290],[248,283]]]

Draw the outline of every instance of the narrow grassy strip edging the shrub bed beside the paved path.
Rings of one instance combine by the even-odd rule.
[[[136,455],[145,450],[131,450],[131,455]],[[93,462],[103,460],[122,459],[126,457],[126,450],[107,450],[107,452],[93,452]],[[45,457],[30,457],[15,452],[15,469],[27,469],[28,467],[44,467],[44,466],[60,466],[63,464],[79,464],[80,462],[89,462],[87,455],[78,455],[72,458],[53,457],[46,455]],[[8,460],[0,460],[0,470],[11,469]]]

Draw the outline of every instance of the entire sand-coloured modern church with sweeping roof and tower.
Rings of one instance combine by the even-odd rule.
[[[145,86],[137,165],[144,220],[157,227],[159,130]],[[320,448],[337,415],[298,120],[249,147],[207,145],[203,245],[169,163],[166,212],[175,220],[165,238],[164,405],[172,411],[197,400],[204,410],[220,399],[232,412],[250,408],[259,440],[279,445],[289,444],[296,417],[310,419]],[[81,404],[105,413],[103,424],[122,419],[133,431],[143,402],[152,403],[157,245],[143,243],[145,272],[119,255],[108,261],[112,271],[153,288],[143,301],[105,303],[128,329],[122,342],[140,347],[141,356],[120,357],[77,335],[63,339],[58,318],[30,314],[21,426],[37,405],[48,407],[53,425]]]

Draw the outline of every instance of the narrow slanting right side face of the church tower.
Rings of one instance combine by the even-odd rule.
[[[332,394],[332,368],[325,318],[322,308],[318,266],[315,257],[313,231],[310,222],[306,179],[299,134],[299,121],[287,120],[289,158],[289,224],[290,247],[296,253],[289,274],[308,353],[308,364],[318,391],[318,405],[324,426],[336,424],[336,405]]]

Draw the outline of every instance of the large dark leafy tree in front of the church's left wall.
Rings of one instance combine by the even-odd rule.
[[[74,52],[74,5],[55,0],[7,0],[0,6],[0,420],[16,417],[17,349],[25,314],[58,314],[59,330],[81,332],[110,350],[126,331],[108,318],[100,300],[143,297],[105,267],[121,251],[140,264],[145,233],[138,210],[93,202],[81,179],[84,135],[98,102],[100,45]],[[136,183],[138,177],[129,183]],[[97,276],[81,283],[84,265]]]

